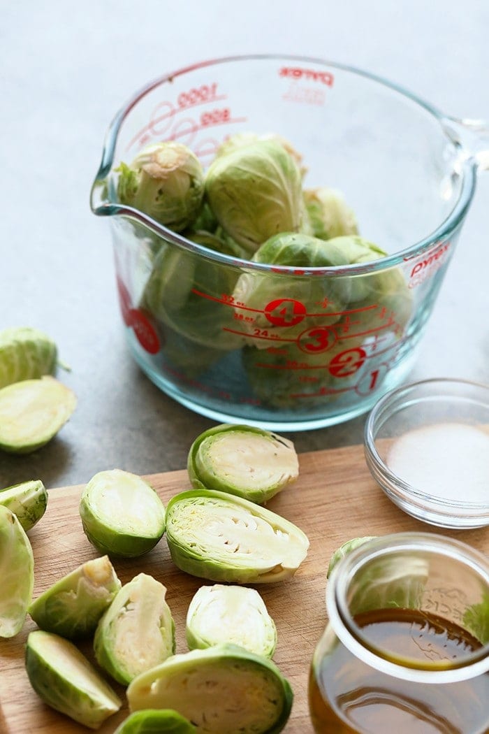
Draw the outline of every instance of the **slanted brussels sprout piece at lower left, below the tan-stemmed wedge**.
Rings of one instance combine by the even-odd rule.
[[[78,647],[51,632],[29,633],[26,672],[32,688],[48,706],[89,729],[98,729],[122,706]]]

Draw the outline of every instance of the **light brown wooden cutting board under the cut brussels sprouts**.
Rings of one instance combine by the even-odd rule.
[[[326,570],[331,553],[346,540],[398,531],[430,531],[456,537],[489,553],[489,528],[439,531],[405,515],[380,490],[369,474],[362,446],[301,454],[300,475],[268,502],[268,508],[298,525],[311,542],[309,553],[295,577],[280,584],[262,584],[268,611],[276,622],[278,644],[274,661],[295,694],[287,734],[312,732],[307,708],[309,661],[326,623]],[[91,477],[87,477],[87,481]],[[190,488],[185,470],[146,477],[163,502]],[[50,490],[48,509],[29,537],[35,559],[34,598],[79,564],[98,554],[85,537],[78,515],[83,487]],[[163,537],[140,559],[114,561],[126,583],[136,573],[154,575],[168,589],[177,635],[177,653],[184,653],[185,615],[191,597],[209,581],[186,575],[172,564]],[[1,579],[0,579],[1,584]],[[8,734],[81,734],[87,728],[52,711],[34,694],[23,665],[27,634],[35,628],[28,616],[23,631],[0,639],[0,732]],[[83,650],[91,655],[90,645]],[[114,685],[124,700],[124,689]],[[98,730],[113,733],[128,714],[125,706]]]

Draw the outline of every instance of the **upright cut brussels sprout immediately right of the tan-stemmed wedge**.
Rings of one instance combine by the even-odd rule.
[[[122,586],[98,623],[95,657],[123,685],[175,651],[174,622],[165,595],[163,584],[140,573]]]

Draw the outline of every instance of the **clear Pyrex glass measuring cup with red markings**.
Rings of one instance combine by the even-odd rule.
[[[339,189],[388,254],[335,267],[207,249],[117,200],[117,167],[150,142],[204,167],[243,131],[277,133],[309,188]],[[92,187],[111,217],[130,350],[167,394],[218,421],[299,430],[364,413],[402,382],[488,166],[485,128],[361,70],[235,57],[161,77],[117,113]]]

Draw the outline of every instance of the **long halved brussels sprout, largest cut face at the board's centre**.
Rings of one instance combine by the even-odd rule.
[[[290,578],[309,540],[298,527],[249,500],[216,490],[174,495],[166,541],[180,570],[210,581],[265,584]]]

